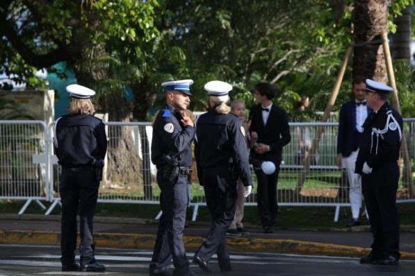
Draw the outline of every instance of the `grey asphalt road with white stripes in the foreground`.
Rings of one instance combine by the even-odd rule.
[[[97,259],[105,264],[108,275],[148,275],[152,252],[144,250],[99,249]],[[189,259],[193,256],[188,254]],[[61,273],[57,246],[0,245],[0,275],[102,275],[103,273]],[[415,261],[401,261],[399,266],[361,265],[358,259],[281,255],[272,253],[237,253],[231,255],[234,272],[220,273],[215,259],[213,273],[203,273],[191,265],[197,275],[270,276],[375,276],[415,275]]]

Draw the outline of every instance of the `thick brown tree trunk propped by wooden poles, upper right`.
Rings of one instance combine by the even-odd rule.
[[[387,31],[388,10],[384,0],[356,0],[353,10],[353,78],[387,83],[381,34]]]

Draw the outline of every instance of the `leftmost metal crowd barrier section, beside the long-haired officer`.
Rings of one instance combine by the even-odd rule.
[[[0,199],[49,200],[49,146],[43,121],[0,121]]]

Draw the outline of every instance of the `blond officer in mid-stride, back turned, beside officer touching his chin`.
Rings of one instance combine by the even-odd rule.
[[[252,175],[248,163],[245,129],[241,119],[229,113],[228,93],[232,86],[219,80],[204,85],[210,94],[211,110],[197,120],[195,157],[197,175],[204,187],[206,205],[212,223],[206,241],[195,253],[193,261],[209,272],[209,259],[218,255],[220,270],[230,271],[231,264],[226,248],[226,231],[234,219],[238,176],[245,186],[245,198],[252,188]]]

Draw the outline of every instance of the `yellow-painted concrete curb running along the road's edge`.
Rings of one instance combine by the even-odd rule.
[[[95,233],[97,247],[101,248],[154,248],[156,234],[113,234]],[[203,236],[184,236],[184,245],[188,250],[195,250],[204,241]],[[59,245],[60,232],[0,230],[0,243],[23,243]],[[369,248],[336,245],[330,243],[314,243],[291,239],[228,239],[227,245],[234,252],[275,252],[298,255],[328,255],[338,257],[363,257],[370,252]],[[415,259],[415,253],[401,252],[402,259]]]

